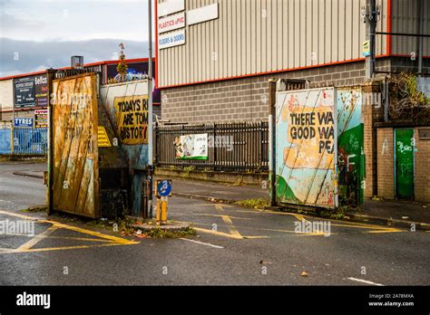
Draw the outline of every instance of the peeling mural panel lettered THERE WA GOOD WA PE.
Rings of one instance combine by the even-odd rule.
[[[335,207],[335,90],[279,92],[276,106],[278,201]]]

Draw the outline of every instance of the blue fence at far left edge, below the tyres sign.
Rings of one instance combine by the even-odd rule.
[[[48,133],[44,128],[0,129],[0,154],[45,155]]]

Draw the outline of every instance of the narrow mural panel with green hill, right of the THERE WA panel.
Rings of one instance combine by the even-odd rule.
[[[364,124],[360,89],[337,90],[337,166],[341,205],[363,203]]]

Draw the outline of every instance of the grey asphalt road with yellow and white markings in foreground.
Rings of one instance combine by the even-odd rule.
[[[15,167],[29,166],[0,166],[0,221],[38,218],[40,236],[0,235],[2,285],[430,284],[428,232],[330,221],[329,234],[297,233],[295,223],[321,219],[171,197],[169,217],[197,236],[125,239],[19,211],[43,203],[44,186]]]

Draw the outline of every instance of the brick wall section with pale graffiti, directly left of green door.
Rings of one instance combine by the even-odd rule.
[[[376,156],[377,196],[394,199],[394,139],[392,128],[377,129]]]

